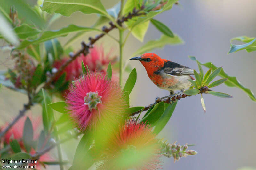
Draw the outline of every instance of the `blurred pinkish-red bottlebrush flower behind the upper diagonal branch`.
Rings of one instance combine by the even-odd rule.
[[[106,74],[108,63],[111,61],[113,64],[116,58],[110,58],[111,50],[105,54],[103,46],[94,46],[90,48],[90,53],[86,56],[81,54],[76,60],[72,61],[63,71],[66,73],[66,81],[75,80],[79,78],[82,72],[82,61],[84,65],[88,66],[91,72],[100,72],[103,75]],[[61,60],[54,61],[53,67],[59,69],[63,63],[65,63],[69,58],[62,58]],[[62,73],[62,74],[63,74]]]

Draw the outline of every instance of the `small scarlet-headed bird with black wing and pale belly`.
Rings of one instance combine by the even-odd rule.
[[[189,80],[194,80],[191,77],[194,74],[193,69],[162,59],[154,53],[145,53],[129,60],[139,60],[145,67],[150,80],[160,89],[170,92],[170,95],[162,97],[161,100],[182,94],[191,86],[192,83]],[[180,92],[174,93],[176,90]]]

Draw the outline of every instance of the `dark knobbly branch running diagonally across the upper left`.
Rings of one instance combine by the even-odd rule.
[[[132,13],[129,12],[128,15],[126,17],[122,17],[121,19],[117,19],[116,23],[119,26],[122,26],[122,23],[124,23],[125,21],[128,21],[128,19],[131,19],[132,17],[135,16],[140,16],[140,15],[145,15],[144,12],[140,13],[140,11],[142,11],[144,9],[144,6],[142,6],[139,10],[136,10],[136,8],[133,9]],[[110,32],[111,30],[113,30],[114,28],[117,28],[116,25],[113,24],[113,22],[109,22],[110,27],[106,27],[103,26],[102,27],[102,31],[104,33],[97,35],[95,38],[89,37],[89,44],[86,44],[84,41],[81,43],[82,44],[82,49],[79,50],[77,53],[73,54],[70,53],[70,59],[68,61],[66,61],[59,69],[58,71],[53,74],[51,76],[51,78],[46,81],[46,83],[44,84],[44,87],[49,86],[54,80],[56,80],[56,78],[63,72],[63,70],[68,66],[68,64],[70,64],[72,61],[74,61],[77,57],[79,57],[81,54],[84,54],[84,56],[86,56],[89,53],[89,49],[93,48],[93,44],[98,41],[101,37],[103,37],[104,35],[106,35],[106,33]]]

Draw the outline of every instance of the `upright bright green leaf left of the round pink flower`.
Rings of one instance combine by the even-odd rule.
[[[43,117],[43,125],[44,131],[48,133],[52,122],[53,122],[53,110],[48,104],[52,103],[51,97],[42,89],[43,101],[42,101],[42,117]]]

